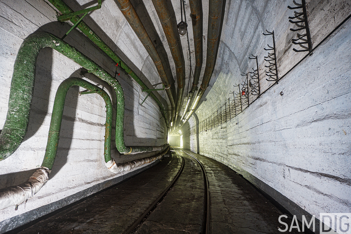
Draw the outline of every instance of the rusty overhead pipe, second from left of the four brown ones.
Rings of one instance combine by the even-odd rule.
[[[170,47],[171,54],[173,57],[174,65],[176,65],[176,74],[177,74],[177,106],[176,106],[176,115],[174,122],[177,122],[180,108],[183,105],[183,92],[184,92],[184,82],[185,82],[185,62],[183,51],[180,50],[178,44],[179,35],[175,33],[176,28],[171,18],[170,11],[165,0],[152,0],[152,3],[156,9],[158,18],[161,21],[163,31],[166,35],[168,46]]]

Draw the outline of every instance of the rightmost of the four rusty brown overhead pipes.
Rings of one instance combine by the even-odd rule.
[[[221,16],[223,9],[223,0],[210,0],[208,5],[208,29],[207,29],[207,55],[206,55],[206,68],[204,72],[204,78],[200,85],[200,89],[192,103],[189,114],[185,117],[185,121],[178,128],[183,127],[192,113],[195,111],[197,105],[200,102],[201,97],[204,95],[208,83],[210,82],[214,65],[216,64],[216,52],[219,45],[219,33],[220,33],[220,24]]]

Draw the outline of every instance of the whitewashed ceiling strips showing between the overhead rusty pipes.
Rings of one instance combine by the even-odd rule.
[[[65,1],[66,4],[73,9],[73,11],[78,11],[80,9],[88,8],[95,6],[95,1],[89,0],[77,0],[77,1]],[[177,78],[176,78],[176,69],[173,62],[173,58],[168,47],[166,36],[161,27],[160,20],[155,11],[155,8],[151,0],[131,0],[135,11],[138,13],[139,18],[143,22],[144,27],[146,28],[147,33],[149,34],[151,40],[154,42],[162,62],[164,64],[166,74],[170,80],[171,87],[173,87],[174,99],[176,99],[177,91]],[[188,38],[190,46],[190,55],[191,55],[191,66],[192,71],[194,72],[195,68],[195,53],[194,53],[194,38],[192,31],[192,22],[191,22],[191,12],[189,2],[185,2],[185,17],[183,12],[183,20],[187,22],[188,25]],[[168,7],[171,12],[171,17],[173,20],[173,26],[177,29],[177,24],[181,21],[180,14],[180,1],[172,0],[167,1]],[[207,21],[208,21],[208,0],[202,2],[203,5],[203,66],[201,69],[199,85],[201,84],[205,65],[206,65],[206,44],[207,44]],[[148,55],[146,49],[141,44],[137,35],[134,33],[131,26],[128,24],[127,20],[121,13],[117,4],[114,0],[103,0],[101,8],[89,13],[84,21],[104,40],[111,48],[115,48],[117,45],[118,51],[117,54],[130,66],[137,75],[146,83],[150,88],[152,85],[159,84],[154,86],[154,88],[161,88],[161,80],[157,73],[157,70],[154,66],[153,61]],[[183,51],[185,59],[185,83],[184,83],[184,94],[185,97],[191,89],[193,75],[191,75],[191,83],[188,85],[189,76],[190,76],[190,56],[188,48],[187,36],[180,37],[179,33],[178,41],[180,41],[181,49]],[[112,44],[115,44],[112,46]],[[193,73],[192,72],[192,73]],[[147,81],[148,80],[148,81]],[[211,79],[208,89],[213,86],[215,78]],[[198,86],[199,86],[198,85]],[[208,91],[207,91],[208,92]],[[207,93],[206,92],[206,93]],[[165,101],[169,105],[170,102],[167,98],[166,92],[159,91],[159,94],[162,96],[164,104]],[[203,97],[205,99],[205,96]],[[183,111],[181,111],[182,113]]]

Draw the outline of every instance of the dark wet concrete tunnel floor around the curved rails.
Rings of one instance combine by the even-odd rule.
[[[249,182],[222,163],[187,153],[203,163],[209,180],[210,233],[281,233],[282,212]],[[183,162],[180,155],[183,173],[134,233],[204,233],[204,176],[198,162],[182,151],[173,151],[170,158],[124,183],[10,233],[125,233],[171,184]]]

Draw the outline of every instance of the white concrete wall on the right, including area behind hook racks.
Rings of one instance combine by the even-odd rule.
[[[288,5],[293,1],[227,0],[211,78],[217,81],[196,111],[199,121],[232,98],[241,72],[256,68],[251,54],[258,56],[261,91],[272,85],[264,75],[263,48],[273,44],[262,35],[266,29],[275,32],[278,75],[284,78],[229,122],[200,133],[200,154],[249,172],[317,218],[349,213],[351,20],[304,58],[307,52],[292,51],[299,47],[290,42],[296,32],[289,30],[295,26],[288,22]],[[307,11],[313,48],[351,13],[345,1],[307,1]]]

